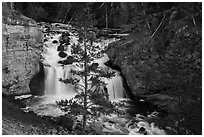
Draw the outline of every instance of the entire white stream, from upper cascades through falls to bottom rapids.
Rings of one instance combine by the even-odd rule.
[[[42,25],[43,24],[43,25]],[[26,104],[25,108],[22,108],[25,112],[33,111],[38,115],[58,117],[64,115],[57,106],[56,101],[62,99],[71,99],[77,92],[74,85],[64,84],[59,81],[60,78],[78,78],[71,73],[71,70],[82,70],[83,67],[79,62],[73,62],[64,64],[66,59],[72,55],[72,46],[78,44],[79,38],[77,32],[73,31],[73,28],[65,24],[50,24],[47,31],[47,24],[41,23],[41,29],[44,31],[44,45],[42,52],[42,63],[44,65],[45,72],[45,93],[43,96],[22,95],[16,96],[16,99],[22,100]],[[63,32],[69,33],[69,44],[65,43],[62,47]],[[115,75],[110,79],[103,79],[107,83],[106,88],[109,94],[109,100],[113,102],[125,102],[125,106],[122,108],[124,115],[110,114],[101,115],[97,120],[91,121],[94,123],[95,128],[109,134],[121,134],[121,135],[164,135],[165,131],[155,123],[149,123],[150,119],[158,118],[157,111],[150,111],[145,115],[139,113],[140,109],[136,108],[136,105],[130,103],[125,88],[123,87],[123,78],[120,72],[113,70],[106,66],[104,63],[109,60],[106,54],[100,54],[100,51],[104,50],[109,43],[118,39],[100,39],[93,43],[95,47],[94,51],[97,52],[100,57],[95,58],[91,63],[97,63],[99,69],[105,72],[115,72]],[[77,56],[77,55],[75,55]],[[79,79],[80,80],[80,79]],[[138,111],[137,111],[138,110]],[[80,117],[78,117],[80,119]]]

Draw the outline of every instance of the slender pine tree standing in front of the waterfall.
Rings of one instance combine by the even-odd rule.
[[[95,48],[93,26],[96,22],[93,14],[90,13],[90,4],[86,3],[84,9],[78,11],[75,18],[79,44],[72,46],[72,54],[77,56],[75,60],[83,67],[81,70],[72,70],[71,73],[80,79],[60,79],[65,84],[74,84],[78,94],[73,99],[57,102],[58,106],[68,114],[83,115],[82,128],[84,130],[86,130],[88,118],[96,118],[101,113],[109,114],[115,111],[114,105],[108,100],[106,84],[101,80],[102,77],[110,78],[113,73],[104,74],[98,69],[97,63],[91,64],[98,54],[93,52]]]

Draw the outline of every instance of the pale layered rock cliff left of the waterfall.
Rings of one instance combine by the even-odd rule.
[[[29,82],[39,71],[43,34],[36,22],[2,4],[2,89],[4,94],[30,93]]]

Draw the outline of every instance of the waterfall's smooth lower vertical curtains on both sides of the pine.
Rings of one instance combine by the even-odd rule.
[[[106,66],[107,67],[107,66]],[[59,81],[72,77],[70,70],[71,65],[62,66],[44,66],[45,70],[45,95],[69,96],[74,97],[76,91],[74,85],[65,84]],[[125,89],[122,84],[122,77],[116,71],[115,76],[111,79],[105,79],[110,100],[125,98]]]

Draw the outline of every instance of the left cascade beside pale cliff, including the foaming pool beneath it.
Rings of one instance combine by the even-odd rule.
[[[71,78],[72,74],[70,71],[74,67],[71,64],[62,65],[59,63],[59,61],[65,60],[65,57],[59,56],[60,51],[57,51],[58,46],[60,46],[59,36],[52,36],[43,45],[41,61],[44,65],[45,72],[45,95],[36,96],[29,100],[25,108],[25,110],[34,111],[38,115],[53,117],[64,115],[65,113],[57,107],[56,101],[71,99],[77,94],[74,85],[65,84],[60,81],[60,78]],[[70,49],[68,48],[63,54],[69,56]]]

